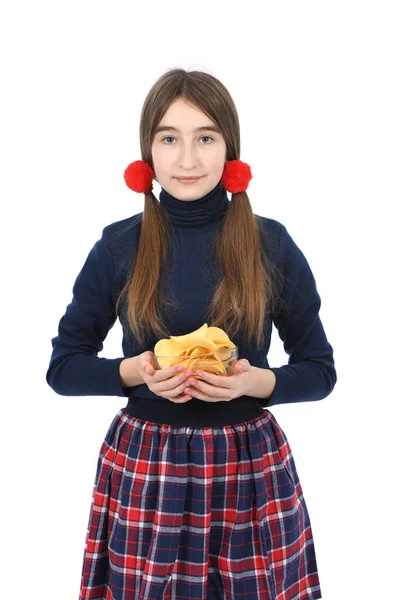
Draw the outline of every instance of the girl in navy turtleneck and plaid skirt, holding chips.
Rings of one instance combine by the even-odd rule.
[[[216,78],[165,73],[140,146],[125,181],[144,211],[89,252],[46,376],[58,394],[128,399],[100,449],[80,600],[321,598],[295,462],[269,411],[335,386],[314,276],[285,226],[252,211],[238,115]],[[100,358],[117,316],[123,356]],[[157,368],[159,339],[205,323],[239,349],[229,376]],[[272,324],[289,355],[278,368]]]

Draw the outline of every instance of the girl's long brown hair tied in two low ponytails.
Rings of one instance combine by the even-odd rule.
[[[220,127],[227,146],[227,161],[240,158],[239,118],[228,90],[208,73],[172,69],[156,81],[142,108],[142,160],[154,169],[151,146],[155,129],[178,98],[199,108]],[[159,285],[170,238],[168,211],[153,192],[146,193],[138,250],[116,305],[118,311],[122,298],[127,296],[128,324],[141,345],[150,330],[157,339],[175,335],[168,331],[160,314],[161,305],[176,307],[172,298],[161,294]],[[243,331],[248,343],[255,341],[259,349],[264,343],[265,318],[281,304],[280,273],[264,252],[266,242],[265,230],[253,213],[247,193],[232,194],[216,233],[216,261],[222,276],[205,322],[224,329],[232,341],[239,330]]]

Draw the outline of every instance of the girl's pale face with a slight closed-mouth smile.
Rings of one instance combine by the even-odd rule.
[[[162,131],[160,131],[162,129]],[[161,119],[151,146],[156,179],[171,196],[197,200],[219,183],[225,166],[226,143],[213,121],[182,98]],[[182,183],[180,177],[199,177]]]

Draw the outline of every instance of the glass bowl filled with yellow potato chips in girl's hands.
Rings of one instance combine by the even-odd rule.
[[[157,368],[168,369],[181,364],[185,369],[192,369],[197,379],[201,379],[195,375],[197,369],[229,376],[238,356],[238,347],[223,329],[208,327],[207,323],[185,335],[159,340],[154,346]]]

